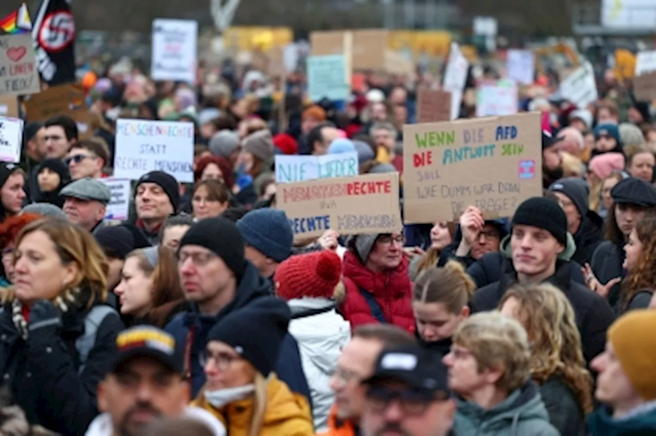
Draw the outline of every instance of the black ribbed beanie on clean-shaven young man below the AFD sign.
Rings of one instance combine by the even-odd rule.
[[[567,247],[567,216],[552,199],[533,197],[525,200],[515,211],[510,227],[517,224],[544,229]]]

